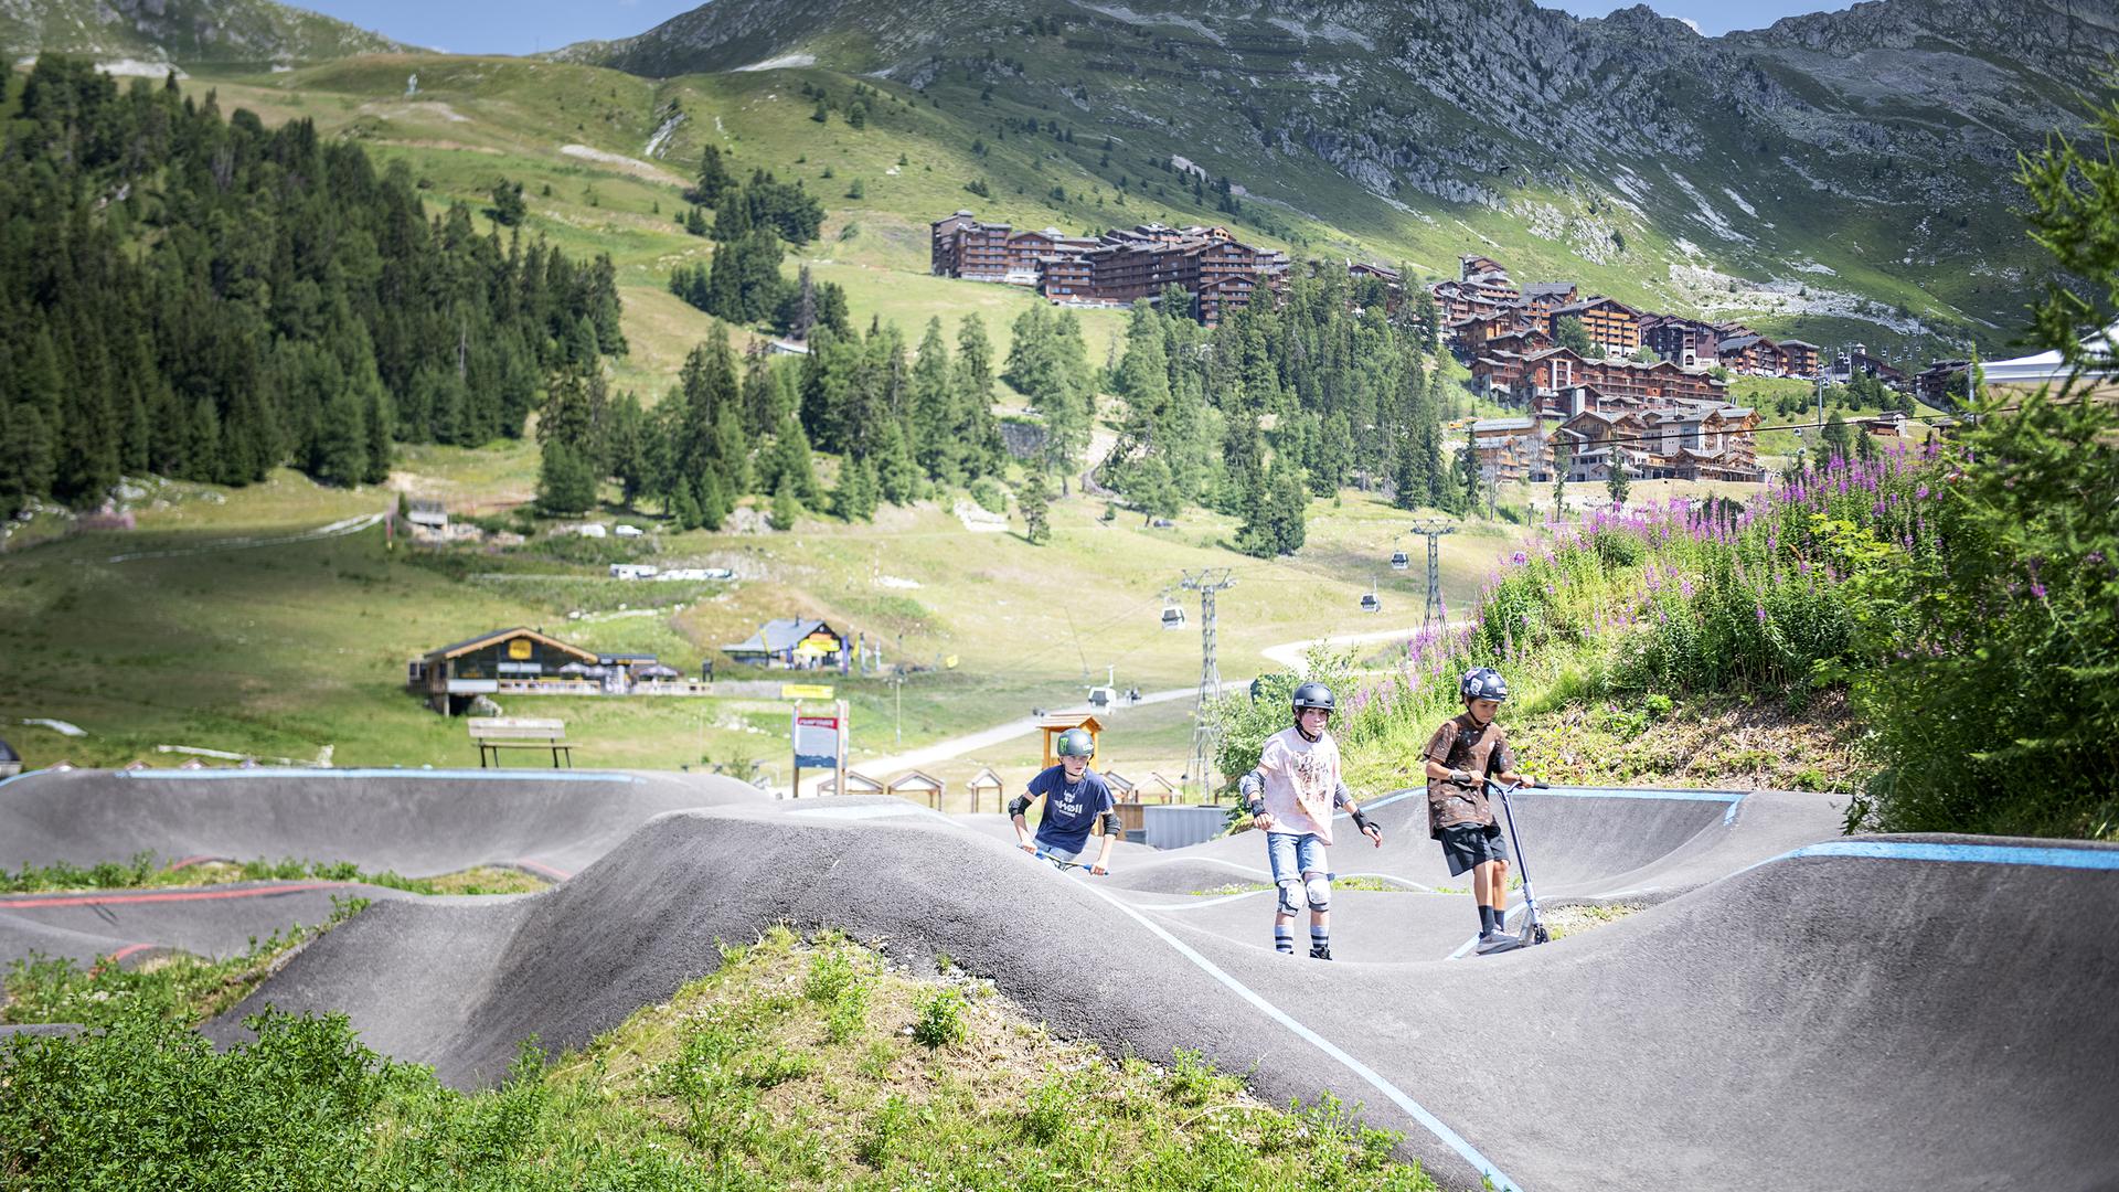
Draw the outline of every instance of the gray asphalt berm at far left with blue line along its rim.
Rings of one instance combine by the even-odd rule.
[[[68,770],[0,783],[0,867],[186,861],[352,861],[434,876],[473,865],[564,880],[672,808],[763,802],[708,774],[506,770]],[[231,957],[318,925],[333,897],[420,897],[295,880],[203,889],[0,895],[0,967],[32,952],[136,965],[172,948]]]

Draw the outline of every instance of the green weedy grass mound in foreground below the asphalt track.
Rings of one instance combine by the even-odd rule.
[[[1110,1063],[983,982],[786,931],[581,1052],[526,1044],[462,1094],[345,1018],[252,1018],[216,1052],[153,1014],[0,1050],[8,1188],[1276,1188],[1430,1192],[1324,1097],[1276,1109],[1178,1052]],[[947,991],[937,997],[937,988]],[[867,1020],[833,1035],[860,1001]],[[905,1035],[947,1003],[958,1046]]]

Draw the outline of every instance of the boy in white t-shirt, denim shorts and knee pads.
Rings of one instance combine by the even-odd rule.
[[[1274,910],[1274,950],[1295,954],[1295,912],[1310,904],[1310,957],[1331,959],[1331,870],[1324,848],[1331,846],[1333,808],[1346,806],[1354,827],[1377,848],[1384,829],[1369,823],[1354,806],[1354,795],[1339,781],[1339,742],[1326,725],[1337,700],[1322,683],[1295,689],[1295,728],[1265,738],[1259,764],[1237,781],[1252,825],[1265,831],[1265,859],[1280,887]]]

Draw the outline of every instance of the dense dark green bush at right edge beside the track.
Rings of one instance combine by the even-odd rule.
[[[1882,761],[1850,827],[2119,836],[2119,409],[2032,397],[1924,501],[1952,549],[1854,585]]]

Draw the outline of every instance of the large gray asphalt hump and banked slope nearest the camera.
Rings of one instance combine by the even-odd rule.
[[[578,1046],[710,971],[716,940],[790,923],[949,952],[1115,1052],[1199,1048],[1274,1101],[1360,1101],[1452,1186],[1477,1184],[1464,1150],[1386,1088],[1534,1190],[2119,1177],[2100,1126],[2119,1097],[2113,942],[2066,937],[2045,912],[2108,921],[2111,872],[1803,857],[1545,948],[1312,963],[1261,946],[1263,912],[1235,940],[1185,912],[1129,914],[1098,878],[926,812],[826,814],[860,810],[674,812],[547,895],[379,906],[235,1014],[345,1007],[373,1044],[475,1086],[517,1039]],[[1411,895],[1346,914],[1403,912],[1396,897]],[[460,997],[430,988],[445,959],[475,980]]]

